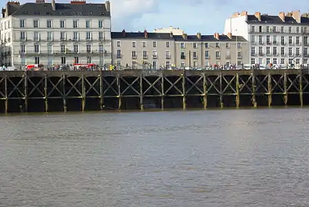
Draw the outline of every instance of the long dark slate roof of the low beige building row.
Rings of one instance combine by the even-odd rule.
[[[175,41],[246,41],[241,36],[232,36],[230,39],[227,35],[219,35],[219,40],[214,35],[201,35],[201,39],[197,35],[187,35],[187,39],[183,39],[183,35],[172,35],[170,33],[147,32],[148,37],[145,38],[144,32],[112,32],[112,39],[169,39]]]

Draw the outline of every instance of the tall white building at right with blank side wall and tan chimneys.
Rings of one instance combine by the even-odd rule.
[[[226,20],[224,32],[248,40],[251,64],[309,63],[309,18],[299,10],[278,15],[237,12]]]

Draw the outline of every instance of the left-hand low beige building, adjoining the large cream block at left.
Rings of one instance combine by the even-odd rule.
[[[112,60],[117,68],[166,68],[175,64],[172,33],[112,32]]]

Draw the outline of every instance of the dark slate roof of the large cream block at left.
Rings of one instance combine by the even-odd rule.
[[[110,17],[104,3],[56,3],[56,10],[52,10],[51,3],[24,3],[22,5],[8,3],[8,15],[12,16],[83,16]]]

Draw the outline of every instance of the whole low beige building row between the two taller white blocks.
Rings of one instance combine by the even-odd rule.
[[[208,68],[249,64],[248,41],[232,34],[112,32],[112,61],[119,69]]]

